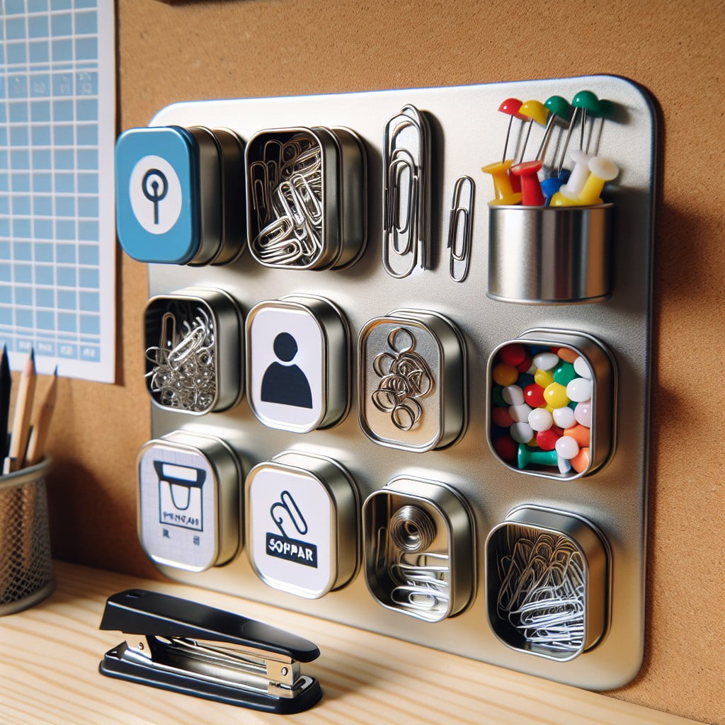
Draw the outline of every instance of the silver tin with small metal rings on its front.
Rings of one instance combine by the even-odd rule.
[[[457,442],[468,422],[465,341],[438,312],[393,310],[358,338],[358,419],[380,445],[423,452]]]

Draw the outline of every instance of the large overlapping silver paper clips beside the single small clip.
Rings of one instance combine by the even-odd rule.
[[[383,139],[383,267],[395,278],[431,266],[431,128],[406,105]]]

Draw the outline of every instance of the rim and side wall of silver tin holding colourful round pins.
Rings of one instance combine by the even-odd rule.
[[[515,465],[511,465],[503,460],[494,450],[491,439],[493,361],[502,348],[522,341],[527,345],[539,344],[549,346],[558,344],[559,347],[568,347],[574,352],[579,353],[581,357],[584,357],[592,368],[592,399],[594,400],[595,419],[592,421],[591,441],[589,443],[591,461],[589,468],[581,473],[577,473],[573,469],[571,475],[566,475],[562,473],[548,473],[543,469],[529,470],[527,468],[517,468]],[[590,476],[592,473],[601,470],[612,460],[616,448],[616,364],[613,355],[602,341],[587,333],[578,331],[549,328],[533,328],[527,330],[518,337],[506,340],[494,347],[486,365],[486,382],[486,442],[489,444],[489,448],[494,457],[496,457],[496,460],[502,465],[505,465],[510,471],[523,473],[526,476],[534,476],[539,479],[576,481],[576,479]],[[610,411],[609,413],[607,409]]]

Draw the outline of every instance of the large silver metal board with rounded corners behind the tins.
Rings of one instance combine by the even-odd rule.
[[[605,200],[615,205],[613,290],[605,302],[588,305],[521,305],[486,297],[491,179],[481,166],[500,159],[508,119],[497,109],[503,99],[571,98],[588,88],[614,101],[620,113],[605,122],[599,153],[621,167]],[[388,276],[382,254],[382,144],[384,127],[405,104],[415,104],[434,120],[432,219],[434,254],[430,270],[416,268],[403,279]],[[429,624],[378,605],[358,574],[348,587],[320,600],[276,592],[257,579],[247,557],[222,568],[188,574],[165,568],[168,576],[200,587],[270,602],[342,621],[428,647],[576,684],[612,689],[629,682],[642,662],[644,647],[647,436],[650,387],[650,299],[655,183],[655,114],[647,94],[634,83],[612,76],[530,80],[456,88],[414,88],[304,98],[241,99],[174,104],[154,125],[217,125],[247,140],[258,130],[287,126],[345,125],[355,130],[368,151],[370,229],[368,248],[347,270],[270,270],[244,254],[226,268],[152,265],[152,294],[203,284],[233,294],[244,310],[262,299],[287,294],[321,294],[341,307],[353,336],[371,318],[397,307],[436,310],[454,320],[468,348],[470,421],[465,435],[446,450],[403,452],[371,442],[352,411],[333,428],[300,436],[265,428],[247,401],[228,413],[203,418],[152,410],[152,431],[160,436],[180,426],[222,436],[250,463],[268,460],[290,448],[339,460],[354,476],[364,498],[396,476],[406,474],[455,486],[476,518],[478,594],[465,613]],[[541,129],[531,132],[535,149]],[[445,251],[448,214],[455,180],[476,181],[471,271],[465,283],[450,278]],[[241,200],[240,200],[241,202]],[[503,341],[530,328],[581,331],[613,351],[618,377],[617,447],[610,463],[580,481],[552,481],[509,470],[486,442],[486,360]],[[139,350],[139,357],[143,351]],[[139,365],[139,373],[141,366]],[[353,407],[357,406],[354,394]],[[571,662],[551,662],[503,645],[486,622],[484,542],[489,531],[519,505],[540,505],[584,516],[600,529],[611,548],[612,596],[605,639]]]

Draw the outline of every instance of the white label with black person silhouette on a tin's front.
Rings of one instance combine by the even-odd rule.
[[[326,346],[320,326],[307,310],[269,307],[252,320],[249,395],[265,425],[310,431],[324,417]]]

